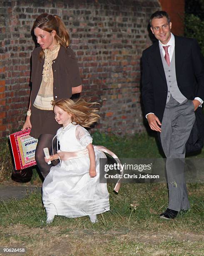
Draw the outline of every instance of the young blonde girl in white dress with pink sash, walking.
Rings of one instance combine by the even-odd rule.
[[[117,156],[102,146],[93,147],[92,137],[82,127],[90,127],[100,118],[98,110],[92,108],[93,103],[62,99],[52,101],[52,105],[55,120],[63,127],[56,135],[60,150],[45,158],[45,162],[60,159],[57,166],[51,167],[42,186],[47,223],[51,223],[55,215],[68,218],[88,215],[95,223],[97,214],[109,210],[107,184],[99,182],[99,160],[106,158],[101,150],[114,158]]]

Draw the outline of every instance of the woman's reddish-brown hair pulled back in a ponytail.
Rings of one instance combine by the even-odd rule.
[[[65,27],[64,22],[58,15],[51,15],[48,13],[40,14],[39,16],[37,16],[35,22],[33,23],[32,31],[34,31],[35,28],[41,28],[42,30],[45,30],[49,33],[55,30],[55,39],[57,40],[57,42],[65,48],[69,46],[69,33]],[[44,58],[44,51],[42,49],[40,51],[39,57]]]

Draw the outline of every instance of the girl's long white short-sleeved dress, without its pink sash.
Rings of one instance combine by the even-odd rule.
[[[57,131],[60,151],[82,151],[83,156],[51,167],[42,185],[42,201],[47,214],[76,218],[96,215],[109,210],[109,193],[106,183],[99,182],[99,160],[105,154],[95,149],[97,175],[89,175],[90,159],[86,146],[92,143],[88,131],[70,123]],[[75,151],[75,152],[73,152]]]

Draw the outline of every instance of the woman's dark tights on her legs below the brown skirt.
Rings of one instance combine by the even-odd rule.
[[[35,161],[37,162],[37,166],[40,169],[42,176],[45,178],[47,174],[50,172],[50,168],[54,166],[54,164],[47,164],[45,162],[45,154],[43,148],[48,148],[50,155],[52,155],[52,139],[54,135],[52,134],[41,134],[38,138],[37,147],[35,150]],[[57,152],[57,138],[53,141],[53,151],[54,154]]]

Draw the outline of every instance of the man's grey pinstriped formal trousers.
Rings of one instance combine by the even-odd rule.
[[[190,207],[184,177],[185,144],[195,121],[192,100],[177,102],[170,96],[161,126],[161,142],[166,160],[169,205],[171,210],[187,210]]]

